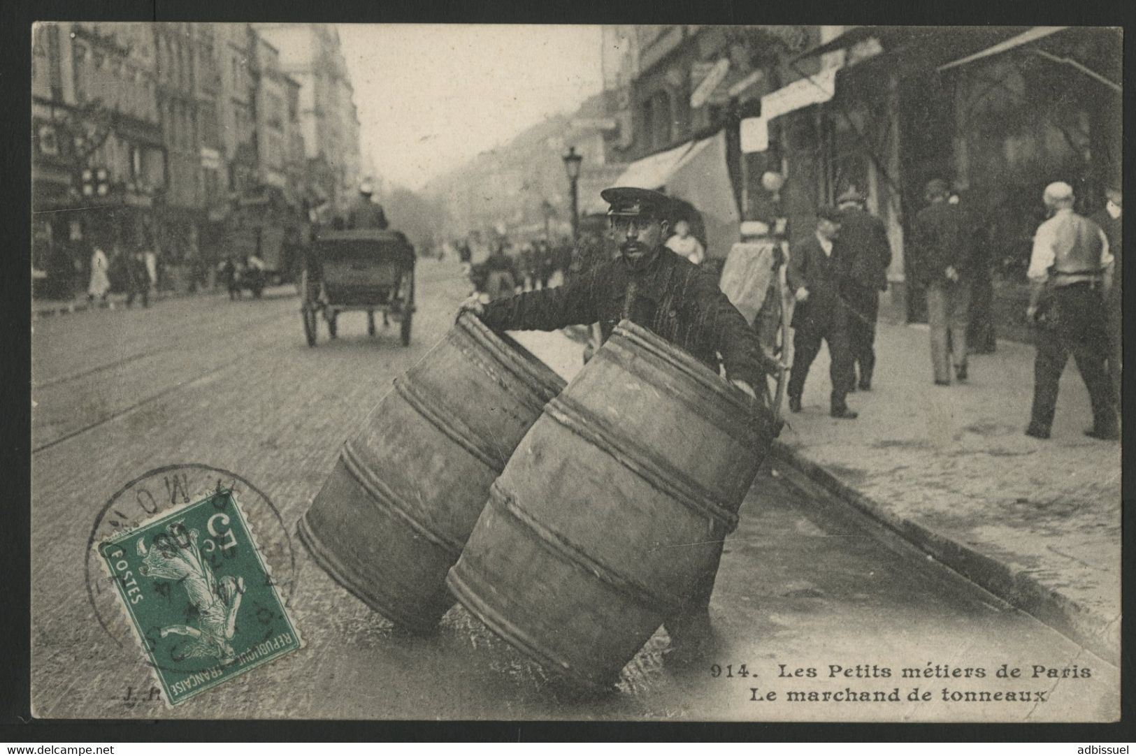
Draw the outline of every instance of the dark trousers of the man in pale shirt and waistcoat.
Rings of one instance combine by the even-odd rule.
[[[1069,355],[1088,389],[1093,428],[1111,435],[1117,430],[1116,405],[1109,385],[1106,314],[1100,289],[1089,284],[1054,288],[1049,312],[1056,322],[1038,328],[1034,361],[1034,406],[1030,428],[1049,434],[1058,403],[1058,385]]]

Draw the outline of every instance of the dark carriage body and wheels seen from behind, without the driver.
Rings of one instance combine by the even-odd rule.
[[[332,338],[341,312],[367,313],[367,333],[375,335],[375,312],[401,326],[402,345],[410,345],[415,312],[415,247],[402,232],[373,228],[334,230],[312,243],[300,275],[301,313],[308,345],[316,345],[321,313]]]

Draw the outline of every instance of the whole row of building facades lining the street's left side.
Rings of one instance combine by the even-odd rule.
[[[321,35],[337,45],[334,28]],[[328,166],[319,201],[353,190],[350,82],[342,54],[319,61],[333,70],[314,77],[332,81],[335,102],[350,107],[336,106],[333,136],[309,146],[302,84],[249,24],[36,24],[32,257],[41,293],[82,288],[95,245],[111,258],[116,286],[124,255],[143,249],[159,257],[159,287],[208,282],[224,257],[261,251],[260,237],[240,229],[307,220],[319,203],[312,154]]]

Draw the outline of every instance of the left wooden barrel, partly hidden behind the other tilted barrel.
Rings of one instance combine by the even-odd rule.
[[[453,604],[445,573],[490,485],[563,386],[523,346],[462,314],[343,445],[300,520],[301,539],[368,606],[432,630]]]

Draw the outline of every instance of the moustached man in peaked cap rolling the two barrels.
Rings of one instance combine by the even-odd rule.
[[[765,356],[758,336],[718,288],[713,274],[668,250],[662,240],[673,204],[667,195],[636,187],[600,193],[619,255],[605,260],[566,286],[525,292],[482,304],[476,297],[461,309],[477,313],[494,330],[556,330],[599,321],[607,341],[620,320],[651,329],[718,372],[718,354],[727,378],[751,397],[765,387],[767,372],[780,367]],[[763,392],[762,392],[763,393]],[[691,661],[710,636],[713,571],[678,615],[667,621],[670,657]]]

